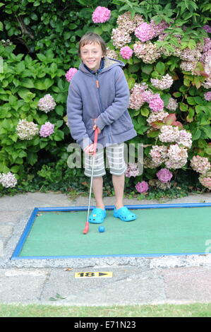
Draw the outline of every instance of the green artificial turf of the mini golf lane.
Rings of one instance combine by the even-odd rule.
[[[107,211],[105,232],[90,224],[86,211],[39,212],[20,251],[23,256],[109,256],[205,253],[211,238],[211,207],[132,210],[130,223]]]

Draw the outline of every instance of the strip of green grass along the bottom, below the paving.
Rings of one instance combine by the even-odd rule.
[[[0,304],[1,317],[210,317],[211,303],[111,307]]]

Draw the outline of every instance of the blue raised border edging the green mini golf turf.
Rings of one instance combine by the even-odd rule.
[[[141,208],[203,208],[211,206],[211,203],[171,203],[171,204],[143,204],[143,205],[126,205],[127,208],[131,209],[141,209]],[[92,210],[95,206],[90,206]],[[107,210],[113,210],[114,206],[105,206]],[[16,249],[13,251],[11,260],[15,259],[79,259],[79,258],[100,258],[100,257],[159,257],[159,256],[187,256],[187,255],[203,255],[205,252],[191,252],[191,253],[160,253],[160,254],[114,254],[114,255],[80,255],[80,256],[19,256],[20,251],[25,244],[25,240],[28,237],[28,234],[32,228],[32,225],[35,221],[37,213],[47,212],[47,211],[87,211],[87,206],[62,206],[62,207],[50,207],[50,208],[34,208],[32,211],[28,223],[23,230],[23,233],[16,245]]]

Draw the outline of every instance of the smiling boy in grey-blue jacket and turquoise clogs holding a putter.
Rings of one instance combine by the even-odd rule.
[[[136,215],[123,206],[126,164],[123,142],[135,137],[128,104],[130,92],[121,67],[123,62],[106,57],[107,48],[100,35],[86,33],[79,42],[78,53],[82,63],[73,76],[68,90],[67,116],[71,136],[85,152],[85,175],[91,176],[91,160],[95,129],[98,144],[92,190],[96,208],[90,223],[102,223],[106,211],[102,199],[104,170],[103,148],[106,148],[110,173],[116,196],[114,217],[123,221],[135,220]]]

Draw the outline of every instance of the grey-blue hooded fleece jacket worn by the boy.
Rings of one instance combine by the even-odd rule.
[[[103,147],[137,136],[128,113],[130,91],[122,61],[104,57],[104,68],[91,73],[83,62],[73,76],[67,99],[68,126],[81,148],[94,141],[93,126],[101,129]]]

